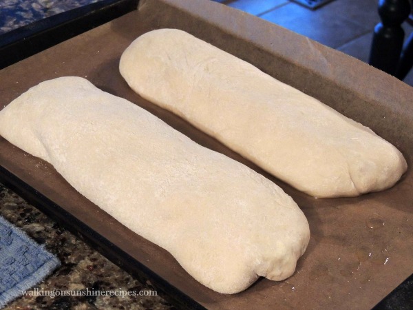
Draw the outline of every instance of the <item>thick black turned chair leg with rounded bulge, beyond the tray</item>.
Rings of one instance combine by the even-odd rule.
[[[379,0],[381,23],[374,28],[370,65],[389,74],[396,74],[404,39],[401,23],[409,14],[409,0]]]

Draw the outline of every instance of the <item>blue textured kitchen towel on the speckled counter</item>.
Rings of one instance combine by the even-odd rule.
[[[59,266],[58,258],[0,216],[0,309]]]

